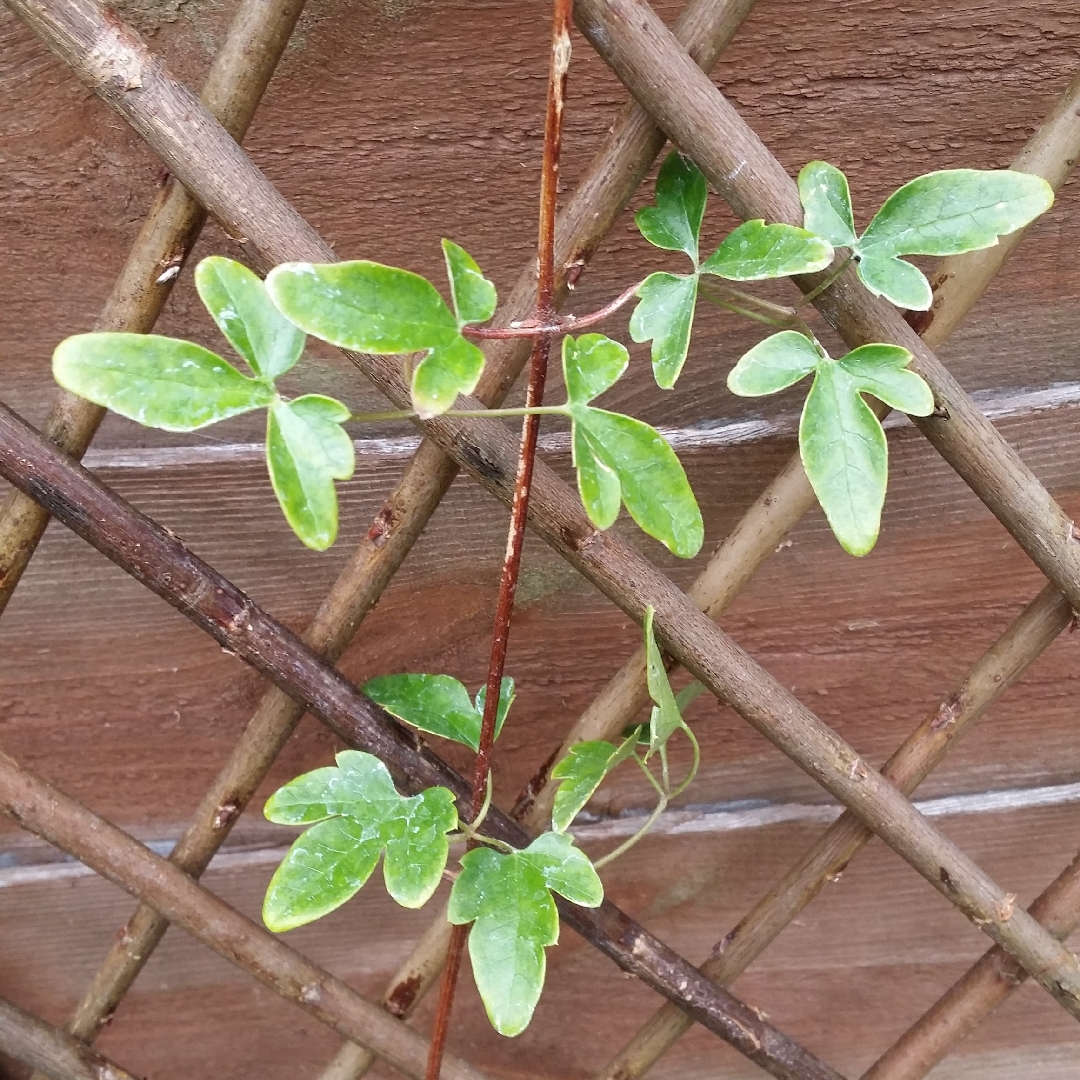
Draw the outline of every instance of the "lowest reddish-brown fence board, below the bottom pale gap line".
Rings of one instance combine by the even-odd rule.
[[[1028,901],[1071,858],[1068,840],[1080,823],[1080,805],[940,823],[996,876],[1017,882],[1021,899]],[[788,823],[658,837],[612,864],[605,879],[620,903],[701,959],[717,924],[738,919],[821,828]],[[271,869],[269,864],[212,868],[206,885],[255,916]],[[130,904],[94,877],[0,889],[5,927],[0,993],[46,1017],[63,1016]],[[381,888],[366,888],[326,920],[291,932],[285,941],[359,990],[375,994],[429,918],[427,912],[396,908]],[[875,843],[784,932],[738,990],[852,1077],[982,954],[983,943],[949,905]],[[253,1063],[284,1080],[298,1071],[312,1075],[307,1070],[329,1059],[337,1049],[333,1037],[324,1038],[318,1025],[278,1004],[272,995],[248,987],[231,966],[185,934],[170,933],[105,1030],[100,1048],[156,1080],[191,1075],[211,1055],[220,1064],[222,1080],[247,1080]],[[487,1026],[475,991],[463,984],[451,1049],[496,1077],[584,1080],[653,1007],[651,991],[623,977],[577,935],[564,933],[550,954],[535,1027],[516,1040],[500,1039]],[[419,1013],[421,1029],[429,1016]],[[147,1031],[156,1037],[147,1039]],[[1018,1080],[1038,1080],[1040,1063],[1061,1063],[1065,1050],[1080,1054],[1075,1023],[1028,988],[959,1048],[942,1075],[972,1080],[977,1067],[997,1057],[999,1071],[987,1074],[993,1080],[1007,1080],[1002,1063],[1015,1067]],[[1071,1080],[1059,1064],[1056,1068],[1047,1075]],[[657,1075],[753,1080],[761,1074],[697,1031],[658,1065]]]

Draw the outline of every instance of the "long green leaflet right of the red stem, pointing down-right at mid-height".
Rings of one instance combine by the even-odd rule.
[[[590,453],[615,474],[622,501],[642,530],[680,558],[697,555],[705,538],[701,511],[679,459],[660,433],[633,417],[588,405],[571,405],[570,416],[575,447],[588,443]],[[585,432],[580,438],[579,428]],[[610,500],[610,483],[605,483],[604,495]],[[583,494],[586,486],[579,477]],[[610,509],[609,502],[602,505]],[[593,524],[607,527],[595,519]]]

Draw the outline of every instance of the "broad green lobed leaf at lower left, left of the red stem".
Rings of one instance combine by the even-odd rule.
[[[342,751],[336,768],[286,784],[265,812],[279,824],[319,821],[289,848],[270,880],[262,920],[275,932],[340,907],[370,877],[383,851],[390,895],[404,907],[422,907],[446,866],[446,834],[458,824],[454,795],[445,787],[405,798],[387,767],[360,751]]]

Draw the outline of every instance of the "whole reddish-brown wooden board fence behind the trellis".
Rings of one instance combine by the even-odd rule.
[[[192,84],[228,15],[210,4],[141,0],[123,11]],[[397,262],[438,281],[437,241],[448,234],[509,284],[535,231],[545,63],[545,19],[522,12],[510,2],[326,0],[306,17],[302,40],[246,145],[342,255]],[[575,44],[567,184],[623,99],[580,38]],[[921,8],[760,0],[717,82],[789,171],[813,157],[849,171],[862,224],[916,173],[1008,162],[1072,73],[1078,44],[1080,16],[1048,0],[933,0]],[[39,418],[50,393],[49,355],[63,336],[93,321],[149,203],[158,165],[4,10],[0,140],[3,281],[8,310],[18,312],[0,321],[0,396]],[[1016,411],[1017,401],[1027,403],[1021,410],[1040,401],[1065,403],[1002,426],[1075,515],[1076,191],[1076,181],[1066,186],[1025,244],[1023,264],[1007,268],[941,351],[966,388],[984,392],[984,403],[1007,413]],[[646,269],[677,269],[645,248],[625,218],[582,281],[573,310],[607,298]],[[714,207],[706,231],[715,241],[729,224]],[[212,251],[234,247],[211,230],[201,252]],[[162,326],[214,342],[189,280],[177,288]],[[624,322],[609,329],[625,338]],[[712,437],[720,444],[685,454],[710,542],[725,535],[793,447],[796,396],[746,403],[723,391],[728,368],[753,340],[740,324],[702,311],[676,391],[650,388],[638,348],[630,376],[609,397],[612,407],[652,422],[697,427],[691,442]],[[338,393],[356,407],[378,401],[355,373],[319,348],[306,377],[307,387]],[[762,437],[740,441],[740,429],[731,427],[739,422],[758,424],[745,430]],[[149,433],[110,418],[97,463],[126,498],[299,627],[345,549],[318,557],[287,535],[256,455],[242,445],[260,436],[259,422],[246,418],[198,438]],[[167,447],[189,463],[158,456]],[[108,457],[129,448],[152,453],[122,459],[123,468]],[[366,529],[406,460],[393,447],[369,450],[347,488],[343,544]],[[847,558],[815,512],[724,621],[874,761],[1042,584],[1000,526],[909,429],[896,433],[892,450],[878,551],[859,563]],[[565,474],[565,456],[554,460]],[[450,671],[478,685],[504,523],[504,511],[470,482],[459,482],[345,670],[357,679],[395,670]],[[672,567],[654,548],[647,550],[680,581],[691,579],[694,567]],[[637,640],[627,619],[536,542],[526,549],[524,591],[511,646],[519,724],[501,740],[497,759],[504,805]],[[1076,637],[1063,636],[926,791],[1075,780],[1077,647]],[[261,689],[239,661],[62,529],[48,535],[0,622],[4,748],[94,809],[161,835],[194,806]],[[705,756],[694,801],[824,798],[730,711],[703,699],[692,717]],[[306,724],[272,783],[324,764],[332,751],[329,737]],[[629,778],[617,778],[592,809],[618,813],[639,807],[644,797]],[[1027,899],[1074,853],[1053,839],[1055,831],[1075,835],[1070,813],[991,815],[960,823],[949,835]],[[650,929],[699,956],[800,853],[809,828],[773,826],[738,840],[650,841],[640,860],[613,869],[623,890],[615,899],[634,914],[648,913]],[[694,867],[690,875],[687,865]],[[254,872],[218,874],[211,885],[255,910],[265,880],[256,878]],[[689,890],[684,899],[671,890],[664,895],[670,879]],[[720,888],[711,891],[717,881]],[[860,888],[852,885],[860,881]],[[0,891],[0,912],[8,913],[0,915],[0,993],[59,1021],[130,902],[89,880],[17,892],[23,899],[16,903],[15,891]],[[370,991],[423,924],[378,903],[365,897],[354,914],[341,914],[340,927],[327,923],[325,939],[313,931],[301,946],[310,945],[316,959],[340,959],[355,985]],[[43,922],[51,936],[36,963],[30,944]],[[19,928],[14,937],[9,926]],[[550,1005],[545,999],[536,1029],[525,1037],[530,1042],[496,1040],[472,1001],[463,1010],[459,1049],[483,1048],[477,1064],[507,1077],[586,1076],[603,1064],[654,999],[569,935],[566,944],[555,961]],[[806,924],[793,927],[740,982],[739,991],[850,1075],[981,947],[974,931],[874,846],[808,910]],[[193,959],[197,954],[178,935],[166,939],[163,959],[153,961],[160,967],[147,973],[107,1034],[107,1053],[154,1077],[198,1070],[207,1053],[222,1075],[238,1077],[249,1075],[253,1063],[269,1076],[314,1075],[328,1059],[333,1040],[315,1025],[238,982],[213,957]],[[580,973],[580,985],[561,980],[563,971]],[[145,1038],[148,1030],[154,1039]],[[595,1059],[582,1056],[582,1048],[593,1052],[596,1031],[604,1042]],[[143,1058],[132,1052],[139,1048]],[[935,1076],[1072,1080],[1078,1049],[1068,1022],[1038,991],[1026,990]],[[526,1061],[544,1063],[544,1071],[529,1071]],[[748,1080],[754,1070],[696,1031],[654,1075]]]

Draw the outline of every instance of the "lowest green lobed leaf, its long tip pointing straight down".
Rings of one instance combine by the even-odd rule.
[[[469,933],[473,977],[500,1035],[524,1031],[540,999],[544,948],[558,941],[552,889],[589,906],[604,897],[592,864],[567,837],[544,834],[512,854],[477,848],[461,860],[447,918],[474,923]]]

